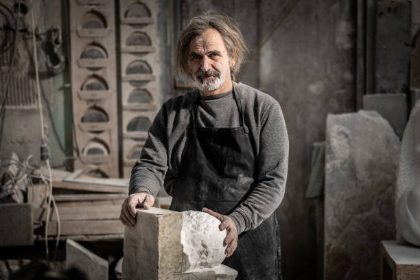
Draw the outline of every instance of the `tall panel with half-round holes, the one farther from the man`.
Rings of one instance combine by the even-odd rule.
[[[82,28],[82,21],[89,19],[103,23],[104,28]],[[97,15],[97,17],[95,17]],[[84,25],[86,26],[86,25]],[[76,169],[101,170],[106,176],[119,176],[118,161],[118,115],[117,115],[117,72],[115,54],[115,1],[71,0],[71,86]],[[89,46],[102,49],[104,58],[81,58]],[[106,83],[105,90],[86,91],[84,82],[97,76]],[[89,108],[101,108],[108,117],[104,123],[82,123],[82,116]],[[100,141],[108,151],[103,155],[87,155],[83,152],[92,141]]]

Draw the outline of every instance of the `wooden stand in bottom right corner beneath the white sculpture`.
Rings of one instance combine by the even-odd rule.
[[[381,280],[420,280],[420,248],[382,240],[380,244]]]

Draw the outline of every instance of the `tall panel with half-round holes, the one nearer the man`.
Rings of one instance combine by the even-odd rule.
[[[126,17],[132,5],[144,5],[146,14],[150,16]],[[119,38],[121,51],[121,143],[124,177],[130,177],[132,165],[135,160],[128,159],[128,154],[137,145],[143,145],[148,137],[147,131],[129,132],[127,126],[135,117],[146,117],[152,124],[157,110],[162,104],[162,93],[160,80],[162,76],[162,65],[159,58],[159,47],[161,42],[158,36],[157,16],[159,14],[159,1],[143,0],[141,3],[135,0],[119,1]],[[145,45],[128,45],[129,38],[140,37],[138,41]],[[127,75],[126,69],[130,63],[136,60],[143,60],[148,64],[151,73]],[[152,102],[133,103],[128,102],[130,94],[135,90],[146,91],[150,94]]]

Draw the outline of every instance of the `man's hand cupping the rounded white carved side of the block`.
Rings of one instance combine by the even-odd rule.
[[[203,212],[212,215],[213,217],[220,220],[219,230],[223,231],[226,229],[226,238],[224,238],[223,246],[226,246],[226,257],[231,257],[237,247],[237,227],[235,222],[226,215],[216,213],[210,209],[203,208]]]

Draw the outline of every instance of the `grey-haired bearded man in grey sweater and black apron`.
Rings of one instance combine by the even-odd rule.
[[[285,191],[288,135],[279,103],[233,82],[246,49],[221,12],[191,19],[177,65],[198,89],[163,104],[132,169],[120,220],[135,224],[137,205],[152,207],[161,185],[174,211],[205,211],[226,229],[224,264],[237,279],[280,279],[274,211]]]

